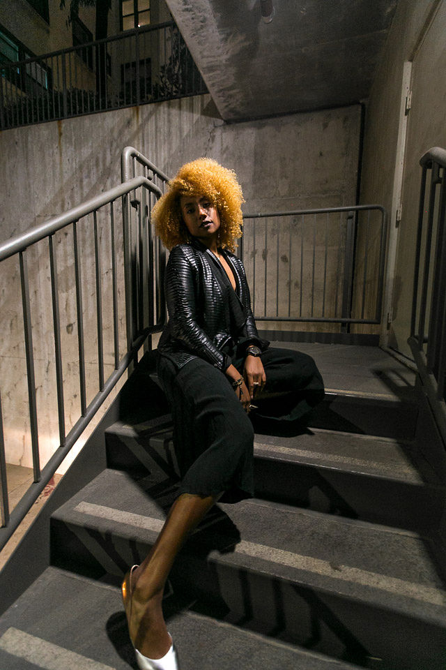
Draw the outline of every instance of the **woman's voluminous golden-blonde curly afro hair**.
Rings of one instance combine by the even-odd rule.
[[[235,251],[235,240],[242,237],[243,215],[241,205],[243,193],[236,173],[219,165],[212,158],[197,158],[185,163],[174,179],[169,181],[164,193],[152,210],[152,223],[162,244],[169,250],[176,244],[190,241],[183,216],[180,198],[183,195],[199,195],[209,198],[220,214],[220,246]]]

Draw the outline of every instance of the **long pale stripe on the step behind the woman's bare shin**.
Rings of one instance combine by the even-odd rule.
[[[162,519],[153,519],[150,516],[123,512],[121,509],[105,507],[105,505],[95,505],[93,502],[79,502],[75,510],[84,514],[90,514],[91,516],[99,516],[102,519],[109,519],[110,521],[120,521],[129,526],[154,530],[155,532],[159,532],[163,525]],[[348,565],[334,565],[328,560],[314,558],[314,556],[303,556],[293,551],[276,549],[273,546],[246,542],[245,540],[236,544],[234,552],[251,556],[252,558],[261,558],[267,560],[269,563],[278,563],[279,565],[305,570],[305,572],[312,572],[320,576],[327,576],[330,579],[377,588],[387,593],[429,602],[433,605],[446,605],[446,591],[433,586],[425,586],[424,584],[407,581],[406,579],[399,579],[399,577],[379,574]]]

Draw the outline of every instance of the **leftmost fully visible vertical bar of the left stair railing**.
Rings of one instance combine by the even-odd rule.
[[[26,250],[20,251],[20,283],[22,285],[23,326],[26,352],[26,374],[28,378],[29,424],[31,430],[31,449],[33,453],[34,482],[40,479],[40,457],[38,445],[36,375],[34,373],[33,333],[31,325],[31,306],[29,303],[28,265]]]

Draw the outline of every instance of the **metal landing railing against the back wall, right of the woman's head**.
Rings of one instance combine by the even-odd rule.
[[[387,215],[380,205],[246,214],[240,243],[258,321],[378,324]]]

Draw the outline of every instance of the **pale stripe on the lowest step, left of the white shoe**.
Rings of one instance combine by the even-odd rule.
[[[61,670],[61,668],[63,670],[114,670],[112,666],[94,661],[17,628],[8,628],[3,633],[0,638],[0,649],[45,670]]]

